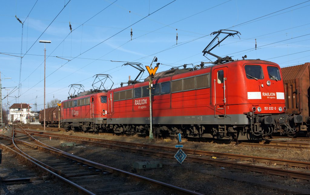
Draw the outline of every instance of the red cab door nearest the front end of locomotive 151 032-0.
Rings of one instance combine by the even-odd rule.
[[[226,115],[227,104],[227,67],[215,69],[213,72],[214,106],[216,115]]]

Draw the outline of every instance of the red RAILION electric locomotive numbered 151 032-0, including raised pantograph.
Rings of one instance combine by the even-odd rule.
[[[225,32],[226,37],[235,32]],[[184,67],[154,76],[154,132],[230,140],[254,140],[275,132],[294,135],[302,117],[285,113],[279,65],[244,60],[246,56],[237,61],[221,58],[210,53],[217,44],[207,51],[211,43],[203,52],[217,57],[216,65],[204,67],[202,62],[200,69]],[[114,132],[148,133],[148,80],[108,91],[107,124]]]

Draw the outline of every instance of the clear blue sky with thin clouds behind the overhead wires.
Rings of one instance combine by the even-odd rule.
[[[1,78],[11,77],[1,81],[11,89],[9,104],[34,109],[37,100],[38,110],[43,109],[44,43],[39,40],[51,40],[46,44],[46,102],[66,100],[70,84],[92,89],[95,74],[111,75],[113,88],[119,87],[139,74],[122,66],[125,62],[145,66],[156,56],[157,72],[207,62],[201,51],[219,29],[241,35],[227,38],[212,51],[216,55],[247,55],[281,67],[310,61],[310,1],[114,1],[2,1],[0,71]],[[145,71],[141,79],[147,76]],[[6,95],[2,89],[2,98]]]

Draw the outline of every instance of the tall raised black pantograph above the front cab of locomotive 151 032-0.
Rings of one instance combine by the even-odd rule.
[[[222,29],[222,30],[215,31],[215,32],[211,33],[210,35],[215,35],[215,34],[217,34],[217,35],[212,39],[212,41],[211,41],[211,42],[207,45],[207,47],[202,51],[203,56],[205,56],[206,53],[207,53],[207,54],[210,54],[210,55],[213,55],[214,57],[216,57],[217,60],[214,61],[214,62],[212,62],[209,58],[207,58],[207,57],[205,56],[205,57],[206,57],[208,60],[210,60],[211,62],[201,62],[201,64],[207,64],[207,63],[211,63],[211,64],[223,64],[223,63],[225,63],[225,62],[232,62],[232,61],[234,61],[234,60],[232,60],[232,58],[229,57],[229,56],[226,56],[226,57],[222,58],[222,57],[220,57],[220,56],[218,56],[218,55],[215,55],[215,54],[213,54],[213,53],[210,52],[212,49],[214,49],[216,46],[218,46],[222,41],[224,41],[224,39],[226,39],[227,37],[234,36],[235,34],[239,37],[239,35],[238,35],[239,32],[236,31],[236,30],[225,30],[225,31],[232,31],[232,32],[235,32],[235,33],[223,32],[223,30],[225,30],[225,29]],[[219,35],[220,35],[221,33],[227,34],[226,37],[222,38],[221,40],[218,40],[218,42],[212,47],[212,44],[215,42],[215,39],[218,38]],[[239,34],[241,35],[241,33],[239,33]],[[239,38],[240,38],[240,37],[239,37]],[[210,48],[210,47],[211,47],[211,48]]]

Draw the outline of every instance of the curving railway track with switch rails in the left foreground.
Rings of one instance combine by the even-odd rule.
[[[26,141],[29,138],[32,140],[31,142]],[[14,144],[14,149],[12,149],[7,146],[7,143],[1,143],[3,148],[23,157],[33,166],[41,168],[81,193],[154,194],[154,191],[149,190],[149,187],[152,186],[178,194],[199,194],[65,153],[39,142],[26,132],[14,131],[13,139],[4,135],[2,135],[2,139],[11,140]],[[137,182],[144,184],[136,185]],[[156,188],[153,189],[156,190]]]

